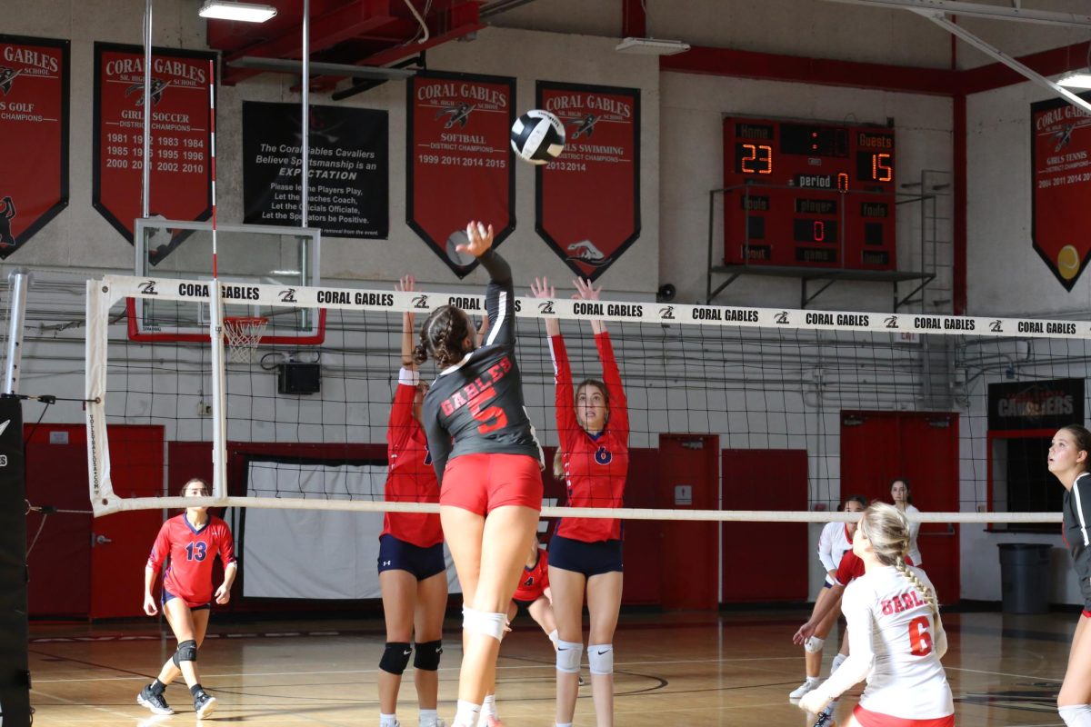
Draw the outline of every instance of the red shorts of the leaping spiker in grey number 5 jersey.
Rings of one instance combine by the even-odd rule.
[[[482,516],[509,505],[541,510],[541,467],[526,455],[456,457],[443,471],[440,505]]]

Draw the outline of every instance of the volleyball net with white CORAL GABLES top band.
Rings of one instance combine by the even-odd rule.
[[[211,478],[209,505],[436,511],[383,489],[403,314],[419,330],[447,303],[483,315],[482,296],[436,291],[88,281],[96,514],[183,507],[190,476]],[[153,308],[156,325],[134,335],[132,317]],[[576,381],[602,377],[588,322],[610,332],[627,507],[580,517],[826,522],[844,497],[889,499],[907,477],[922,521],[1059,519],[1046,451],[1059,425],[1083,422],[1087,323],[567,298],[519,298],[516,317],[548,464],[559,437],[544,322],[560,322]],[[231,326],[250,329],[225,343]],[[433,364],[420,374],[434,378]],[[551,469],[543,516],[575,514]]]

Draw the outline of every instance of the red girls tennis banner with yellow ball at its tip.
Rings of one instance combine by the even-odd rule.
[[[1055,98],[1031,104],[1030,121],[1034,250],[1070,291],[1091,259],[1091,118]]]

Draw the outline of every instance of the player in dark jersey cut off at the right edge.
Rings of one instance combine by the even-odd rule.
[[[1057,712],[1068,727],[1091,727],[1091,432],[1079,424],[1059,429],[1050,444],[1050,472],[1065,487],[1062,535],[1083,596],[1076,623],[1065,680],[1057,694]]]

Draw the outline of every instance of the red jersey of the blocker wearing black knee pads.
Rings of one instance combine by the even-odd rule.
[[[428,453],[428,437],[412,417],[418,379],[417,372],[406,368],[398,375],[398,388],[386,428],[386,457],[389,460],[385,489],[387,502],[440,501],[440,485],[435,482],[432,457]],[[422,548],[443,542],[437,514],[387,512],[383,518],[382,535],[387,534]]]

